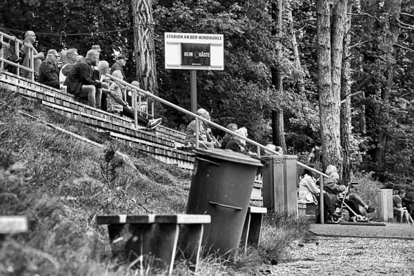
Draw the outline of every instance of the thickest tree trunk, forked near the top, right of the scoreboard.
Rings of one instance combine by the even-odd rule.
[[[339,3],[343,2],[340,1]],[[319,94],[319,117],[322,136],[322,165],[335,165],[342,175],[342,156],[339,140],[339,114],[340,114],[340,72],[342,63],[344,16],[336,19],[342,10],[337,4],[334,9],[333,40],[331,43],[331,1],[317,0],[317,88]],[[346,9],[344,9],[346,10]],[[342,34],[342,35],[341,35]],[[339,41],[337,41],[340,39]],[[339,43],[340,42],[340,43]],[[339,46],[340,44],[340,46]],[[331,53],[331,45],[333,47]],[[333,59],[331,59],[331,57]],[[339,60],[338,60],[339,59]]]

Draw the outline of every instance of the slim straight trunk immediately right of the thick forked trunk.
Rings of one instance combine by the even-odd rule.
[[[350,76],[350,61],[348,59],[348,46],[351,42],[351,12],[352,4],[348,3],[347,8],[348,19],[346,20],[344,37],[344,47],[342,52],[342,75],[341,75],[341,99],[344,103],[341,104],[341,146],[343,152],[343,164],[342,164],[342,183],[347,184],[351,182],[351,162],[350,158],[350,142],[349,137],[351,135],[351,76]]]

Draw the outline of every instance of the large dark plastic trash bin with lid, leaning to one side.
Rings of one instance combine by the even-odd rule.
[[[244,219],[255,176],[262,162],[231,150],[194,150],[195,164],[187,214],[207,214],[204,226],[206,253],[234,257],[239,248]]]

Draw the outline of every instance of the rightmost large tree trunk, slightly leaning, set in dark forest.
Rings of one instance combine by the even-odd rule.
[[[384,1],[384,16],[388,16],[388,21],[385,23],[384,28],[384,56],[386,59],[386,71],[384,75],[386,77],[386,83],[382,88],[381,99],[383,106],[380,108],[380,120],[386,121],[389,113],[389,98],[390,92],[393,88],[393,77],[395,71],[395,47],[394,44],[398,41],[398,35],[400,34],[400,27],[397,20],[400,19],[401,14],[401,2],[402,0],[387,0]],[[377,148],[375,150],[375,161],[380,164],[385,162],[385,148],[386,148],[386,132],[384,126],[380,127],[380,134],[378,135]]]

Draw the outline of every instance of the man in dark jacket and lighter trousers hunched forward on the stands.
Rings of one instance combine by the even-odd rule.
[[[101,106],[101,90],[108,89],[108,83],[92,79],[92,66],[97,66],[99,52],[89,50],[86,59],[79,61],[70,69],[64,85],[68,87],[68,92],[79,98],[88,98],[88,103],[94,108]]]

